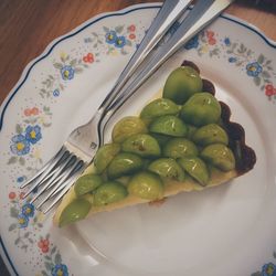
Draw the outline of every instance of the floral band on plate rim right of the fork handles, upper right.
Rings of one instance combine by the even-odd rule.
[[[276,103],[276,72],[272,60],[263,53],[254,53],[250,46],[232,41],[229,36],[219,38],[212,30],[195,35],[184,47],[195,50],[200,56],[204,54],[209,54],[211,59],[223,56],[229,63],[243,71],[269,100]]]

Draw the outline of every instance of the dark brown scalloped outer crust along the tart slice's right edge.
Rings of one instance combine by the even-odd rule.
[[[181,66],[190,66],[193,67],[198,73],[200,73],[199,67],[191,61],[183,61]],[[212,95],[215,94],[214,85],[209,79],[203,81],[203,92],[209,92]],[[245,144],[245,131],[244,128],[235,123],[231,121],[231,109],[230,107],[220,102],[222,108],[222,125],[225,131],[229,135],[229,147],[232,149],[236,160],[236,171],[237,173],[244,174],[245,172],[253,169],[254,164],[256,163],[256,155],[255,151]]]

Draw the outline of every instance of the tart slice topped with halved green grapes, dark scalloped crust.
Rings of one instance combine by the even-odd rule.
[[[214,95],[197,65],[183,62],[159,98],[114,126],[112,142],[63,198],[54,224],[201,191],[252,170],[256,156],[244,129],[230,121],[229,106]]]

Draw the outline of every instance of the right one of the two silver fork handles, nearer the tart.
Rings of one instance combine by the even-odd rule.
[[[110,105],[108,113],[100,123],[100,130],[118,108],[182,45],[201,31],[234,0],[200,0],[183,20],[171,39],[162,44],[148,61],[146,66],[136,75],[136,78],[125,86],[120,95]],[[211,4],[211,6],[210,6]]]

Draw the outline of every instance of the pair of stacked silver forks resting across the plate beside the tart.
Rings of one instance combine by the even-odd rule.
[[[44,213],[47,213],[61,200],[93,161],[97,149],[104,141],[104,128],[116,110],[164,61],[219,15],[233,0],[199,0],[170,40],[150,55],[145,67],[139,66],[190,2],[167,0],[163,3],[139,49],[92,119],[86,125],[73,130],[60,151],[35,176],[21,185],[24,188],[31,184],[24,197],[40,188],[30,201],[33,203],[42,198],[36,209],[50,202],[43,210]]]

